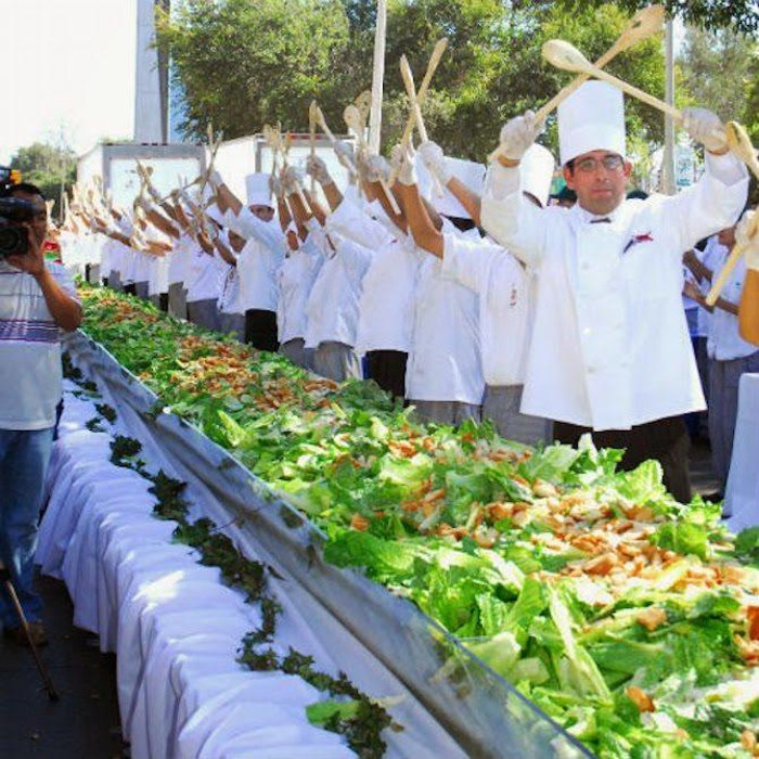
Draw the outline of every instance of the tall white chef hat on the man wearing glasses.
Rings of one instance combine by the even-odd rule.
[[[605,81],[586,81],[558,106],[562,166],[592,151],[626,154],[625,100]]]

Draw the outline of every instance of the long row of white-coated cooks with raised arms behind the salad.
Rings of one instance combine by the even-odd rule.
[[[748,173],[720,120],[691,108],[684,127],[705,171],[673,196],[628,196],[622,94],[589,81],[558,110],[574,205],[550,198],[554,156],[527,112],[503,127],[487,170],[434,142],[398,146],[389,162],[337,142],[358,186],[342,192],[321,158],[306,163],[329,209],[293,166],[247,177],[246,203],[211,171],[203,192],[149,188],[129,210],[75,204],[62,256],[323,376],[368,376],[424,419],[487,419],[528,443],[590,432],[626,449],[626,468],[657,459],[686,501],[687,425],[697,432],[704,388],[724,483],[738,377],[759,372],[738,330],[759,246]],[[707,309],[736,237],[748,253]]]

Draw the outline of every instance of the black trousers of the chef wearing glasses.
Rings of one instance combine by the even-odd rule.
[[[558,442],[577,446],[580,436],[591,433],[596,448],[623,448],[619,467],[634,469],[646,459],[656,459],[664,469],[664,484],[680,503],[692,498],[687,452],[691,440],[682,416],[667,416],[640,424],[631,429],[605,429],[601,433],[566,422],[553,423],[553,437]]]

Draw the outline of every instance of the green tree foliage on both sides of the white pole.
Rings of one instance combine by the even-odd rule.
[[[448,38],[425,120],[447,152],[481,160],[504,119],[545,102],[569,80],[542,61],[544,40],[561,37],[597,57],[626,21],[613,4],[568,13],[551,2],[390,0],[384,150],[408,116],[398,68],[402,54],[419,82],[435,42]],[[200,137],[213,121],[229,139],[276,120],[304,131],[314,98],[333,131],[343,131],[343,107],[371,86],[374,23],[374,0],[190,0],[173,21],[159,14],[159,44],[171,54],[186,92],[186,132]],[[609,69],[654,94],[664,91],[658,39],[619,56]],[[648,141],[661,138],[661,117],[639,103],[629,105],[629,127]],[[555,130],[546,140],[555,145]]]

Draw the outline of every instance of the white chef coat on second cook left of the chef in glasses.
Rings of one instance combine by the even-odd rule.
[[[443,220],[443,233],[461,235]],[[464,233],[462,237],[479,237]],[[479,353],[478,298],[425,254],[414,295],[412,345],[406,368],[406,397],[479,404],[485,380]]]

